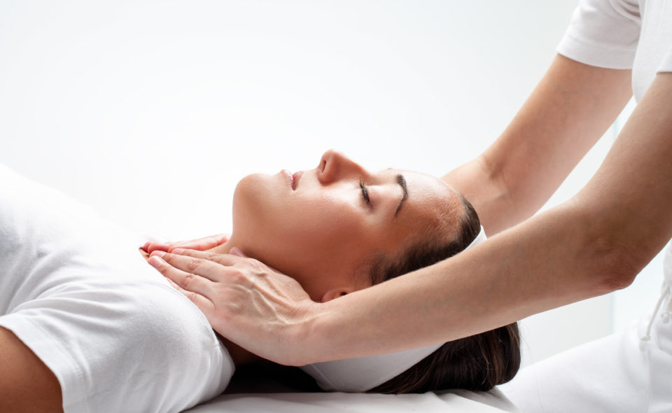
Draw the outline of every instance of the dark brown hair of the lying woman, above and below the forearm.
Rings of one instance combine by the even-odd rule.
[[[450,241],[437,241],[435,232],[426,231],[432,241],[416,242],[399,258],[381,255],[370,269],[372,283],[415,271],[463,251],[477,237],[480,221],[476,210],[458,194],[463,204],[457,235]],[[424,393],[447,388],[488,391],[512,379],[520,367],[518,324],[512,323],[470,337],[443,344],[397,377],[372,388],[369,393]]]

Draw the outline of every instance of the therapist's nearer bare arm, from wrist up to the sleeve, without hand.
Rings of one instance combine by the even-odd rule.
[[[629,285],[672,237],[672,73],[661,73],[572,200],[470,251],[332,300],[315,358],[449,341]],[[309,346],[309,349],[313,346]]]

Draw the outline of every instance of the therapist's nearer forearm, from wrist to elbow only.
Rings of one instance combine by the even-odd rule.
[[[467,253],[328,302],[316,331],[331,337],[332,358],[363,356],[450,341],[607,293],[601,270],[582,259],[589,242],[577,228],[570,205],[547,211]]]

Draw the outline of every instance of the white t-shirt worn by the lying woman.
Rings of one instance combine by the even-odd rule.
[[[0,326],[54,372],[65,412],[179,412],[228,384],[228,352],[143,242],[0,165]]]

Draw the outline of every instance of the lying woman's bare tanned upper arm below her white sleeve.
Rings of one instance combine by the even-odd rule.
[[[56,376],[35,353],[0,327],[0,412],[63,412]]]

